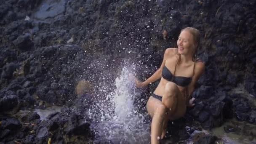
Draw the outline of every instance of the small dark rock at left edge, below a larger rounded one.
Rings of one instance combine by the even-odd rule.
[[[0,128],[15,131],[15,130],[19,130],[21,128],[21,123],[16,118],[8,118],[8,119],[2,121]]]

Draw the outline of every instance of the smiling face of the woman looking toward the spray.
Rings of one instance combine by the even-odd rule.
[[[193,35],[184,30],[179,34],[179,39],[177,40],[178,53],[182,55],[192,54]]]

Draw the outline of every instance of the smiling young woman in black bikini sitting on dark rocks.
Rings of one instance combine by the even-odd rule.
[[[160,83],[147,101],[147,111],[152,117],[151,144],[158,144],[166,133],[168,120],[184,116],[187,107],[192,107],[191,94],[203,74],[205,65],[197,60],[200,33],[187,27],[181,30],[177,40],[178,48],[165,50],[160,68],[147,80],[136,79],[137,87],[145,87],[160,79]]]

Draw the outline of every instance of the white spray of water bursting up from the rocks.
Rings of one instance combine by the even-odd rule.
[[[115,80],[115,90],[97,104],[100,112],[96,115],[100,120],[92,129],[98,141],[149,143],[149,123],[145,120],[145,114],[136,111],[133,106],[133,98],[139,93],[134,92],[135,86],[128,78],[129,73],[128,68],[123,67]],[[95,115],[93,111],[90,110],[91,115]]]

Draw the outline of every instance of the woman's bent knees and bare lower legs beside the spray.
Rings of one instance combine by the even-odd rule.
[[[176,106],[181,92],[175,83],[169,82],[165,85],[162,104],[155,110],[151,123],[151,143],[158,144],[160,136],[164,137],[168,119],[176,112]],[[163,125],[164,124],[164,125]]]

